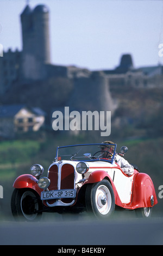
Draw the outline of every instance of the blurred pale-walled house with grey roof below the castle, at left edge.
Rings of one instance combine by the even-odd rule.
[[[0,106],[0,138],[14,138],[18,132],[38,131],[44,123],[45,112],[40,108]]]

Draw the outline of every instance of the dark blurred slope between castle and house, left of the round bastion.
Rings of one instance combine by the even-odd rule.
[[[72,89],[72,81],[61,77],[24,84],[15,82],[5,95],[1,95],[0,102],[2,104],[21,103],[50,112],[54,107],[65,105]]]

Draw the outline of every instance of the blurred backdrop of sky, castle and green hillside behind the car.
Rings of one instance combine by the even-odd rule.
[[[117,143],[163,185],[163,1],[1,0],[0,217],[12,184],[57,146]],[[111,111],[111,134],[54,131],[52,113]],[[158,196],[154,214],[162,216]]]

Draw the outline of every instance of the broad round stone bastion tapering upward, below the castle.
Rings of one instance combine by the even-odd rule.
[[[67,106],[77,111],[114,111],[108,78],[101,72],[74,78],[74,91]]]

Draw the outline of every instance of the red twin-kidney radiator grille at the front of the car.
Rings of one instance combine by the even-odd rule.
[[[48,190],[74,189],[74,167],[71,164],[53,164],[48,170],[48,178],[51,184]],[[49,204],[54,204],[57,199],[48,200]],[[70,204],[72,198],[61,198],[61,202]]]

